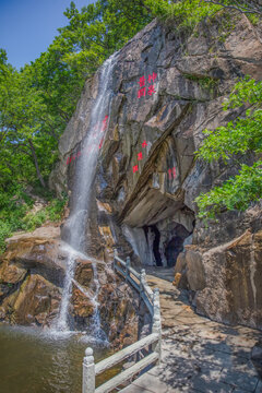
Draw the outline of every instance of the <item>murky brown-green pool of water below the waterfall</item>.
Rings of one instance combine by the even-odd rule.
[[[84,335],[0,325],[0,392],[81,393],[82,361],[87,346],[93,347],[96,361],[110,354]]]

